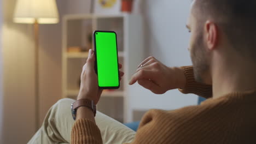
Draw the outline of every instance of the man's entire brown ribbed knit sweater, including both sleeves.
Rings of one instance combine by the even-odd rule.
[[[210,99],[174,111],[148,111],[132,143],[256,143],[256,91],[212,99],[212,87],[196,83],[192,67],[182,68],[187,86],[180,91]],[[102,143],[100,130],[88,119],[79,119],[71,143]]]

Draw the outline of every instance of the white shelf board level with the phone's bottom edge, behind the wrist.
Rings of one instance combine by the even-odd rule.
[[[77,97],[79,93],[79,90],[68,90],[66,95],[68,97]],[[124,92],[123,91],[113,91],[113,92],[108,92],[108,91],[103,91],[101,94],[101,97],[123,97]]]

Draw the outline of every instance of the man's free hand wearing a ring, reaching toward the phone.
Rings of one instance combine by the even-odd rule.
[[[154,57],[148,57],[138,65],[129,84],[135,82],[155,94],[164,94],[171,89],[183,88],[186,78],[181,68],[169,68]]]

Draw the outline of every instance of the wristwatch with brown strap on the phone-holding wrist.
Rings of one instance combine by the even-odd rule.
[[[96,116],[96,105],[94,104],[94,101],[89,99],[79,99],[74,101],[71,105],[71,113],[74,120],[77,117],[77,109],[80,106],[88,107],[92,112],[94,112],[94,116]]]

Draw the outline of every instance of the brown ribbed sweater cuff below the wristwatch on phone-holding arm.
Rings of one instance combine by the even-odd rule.
[[[101,131],[88,119],[75,121],[71,131],[72,144],[102,144]]]

